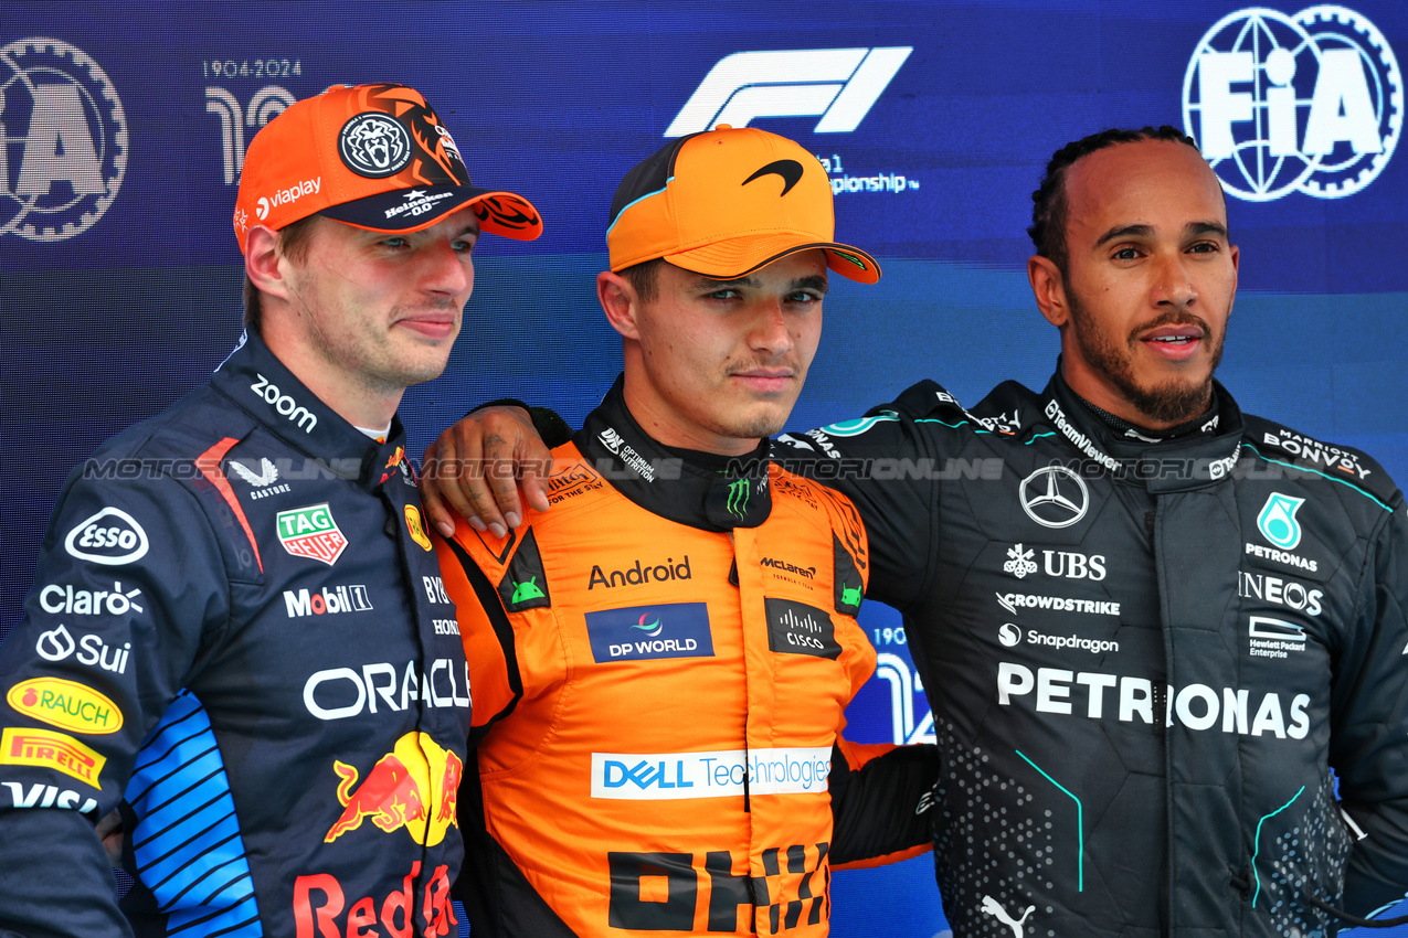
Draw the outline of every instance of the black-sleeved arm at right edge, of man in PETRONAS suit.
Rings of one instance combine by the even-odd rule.
[[[1408,893],[1408,506],[1401,494],[1388,506],[1332,692],[1331,764],[1357,837],[1343,906],[1356,915]]]

